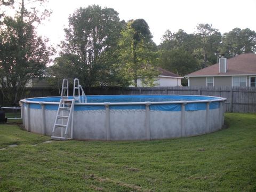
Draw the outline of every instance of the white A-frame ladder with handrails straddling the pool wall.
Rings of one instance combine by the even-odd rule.
[[[75,92],[78,92],[78,95]],[[82,95],[81,95],[82,94]],[[61,88],[61,99],[57,116],[55,118],[54,126],[52,129],[53,140],[66,140],[68,138],[68,128],[71,123],[71,138],[73,139],[73,116],[75,102],[87,102],[86,95],[82,86],[79,84],[79,79],[74,79],[73,99],[68,98],[68,79],[63,79]],[[56,136],[56,130],[61,129],[61,136]],[[59,134],[58,134],[59,135]]]

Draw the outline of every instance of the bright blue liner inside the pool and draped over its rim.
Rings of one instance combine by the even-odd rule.
[[[115,102],[165,102],[165,101],[199,101],[199,100],[214,100],[216,97],[205,97],[196,95],[89,95],[87,103],[115,103]],[[69,97],[73,99],[73,97]],[[45,97],[45,98],[30,98],[28,101],[38,102],[59,102],[60,97]],[[26,105],[26,103],[25,103]],[[46,110],[58,110],[58,104],[46,104]],[[218,109],[220,107],[219,101],[210,102],[210,109]],[[31,109],[41,109],[39,103],[30,103]],[[84,110],[105,110],[104,105],[75,105],[74,111]],[[146,105],[132,104],[132,105],[110,105],[110,110],[145,110]],[[181,103],[164,103],[151,104],[150,110],[158,111],[181,111]],[[187,103],[185,105],[186,111],[206,110],[206,102]]]

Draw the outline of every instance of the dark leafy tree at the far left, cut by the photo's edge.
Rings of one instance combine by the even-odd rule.
[[[37,14],[35,8],[28,11],[22,0],[15,18],[5,17],[0,29],[0,86],[12,105],[17,105],[29,79],[42,76],[50,61],[47,39],[38,37],[33,25],[46,14]]]

